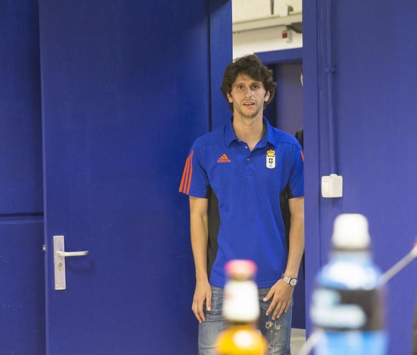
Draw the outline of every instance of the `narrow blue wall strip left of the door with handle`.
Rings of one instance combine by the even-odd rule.
[[[38,2],[0,5],[0,353],[43,354]]]

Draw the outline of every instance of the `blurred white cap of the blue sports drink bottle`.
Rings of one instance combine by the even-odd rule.
[[[367,249],[370,243],[368,220],[359,214],[342,214],[333,225],[332,242],[336,249]]]

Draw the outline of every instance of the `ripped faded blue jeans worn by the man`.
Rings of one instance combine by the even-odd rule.
[[[290,336],[293,302],[288,312],[282,313],[278,319],[272,320],[272,312],[265,315],[272,300],[264,302],[269,288],[258,289],[261,316],[259,326],[268,341],[268,355],[291,355]],[[218,335],[226,328],[226,322],[221,314],[223,304],[223,289],[211,287],[211,311],[204,304],[206,321],[199,324],[199,355],[215,355],[214,345]]]

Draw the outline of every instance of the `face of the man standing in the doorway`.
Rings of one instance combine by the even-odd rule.
[[[254,118],[264,109],[269,92],[264,85],[245,74],[239,74],[232,85],[228,100],[233,103],[233,113],[242,118]]]

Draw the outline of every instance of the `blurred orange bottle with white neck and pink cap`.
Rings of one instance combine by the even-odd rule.
[[[251,260],[231,260],[226,264],[223,316],[229,323],[219,335],[219,355],[266,355],[268,344],[256,328],[260,315],[258,288],[254,282],[256,264]]]

